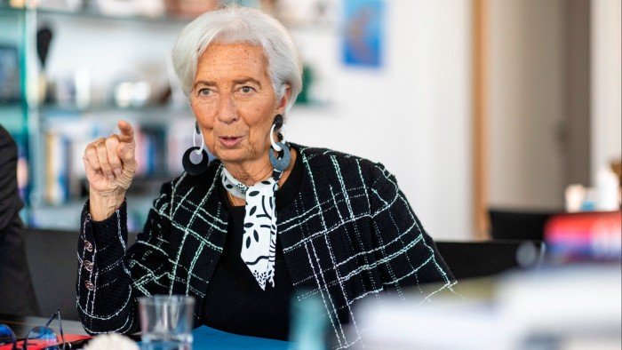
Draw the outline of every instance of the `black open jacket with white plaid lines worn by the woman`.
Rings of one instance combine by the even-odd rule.
[[[298,299],[322,299],[336,348],[361,338],[360,330],[344,327],[347,321],[356,325],[357,300],[380,292],[427,300],[452,290],[451,271],[382,164],[292,146],[304,174],[296,200],[278,211],[278,235]],[[184,173],[165,183],[129,249],[125,204],[94,222],[86,203],[76,282],[85,330],[139,330],[140,296],[192,295],[200,310],[227,234],[227,211],[218,195],[221,170],[216,161],[201,176]],[[427,282],[440,287],[422,294],[417,287]],[[195,322],[201,322],[196,312]]]

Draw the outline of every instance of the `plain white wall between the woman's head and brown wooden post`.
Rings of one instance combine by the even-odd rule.
[[[294,32],[332,103],[293,110],[287,138],[384,163],[430,235],[470,238],[470,3],[386,4],[380,70],[344,67],[334,30]]]

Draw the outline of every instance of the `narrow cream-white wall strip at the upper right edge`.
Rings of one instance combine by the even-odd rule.
[[[596,171],[622,156],[622,4],[592,1],[592,179]]]

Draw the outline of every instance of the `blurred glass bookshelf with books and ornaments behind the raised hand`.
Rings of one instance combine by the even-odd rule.
[[[132,231],[140,230],[161,184],[181,172],[176,160],[191,143],[188,131],[192,131],[193,117],[179,92],[171,98],[175,87],[170,85],[164,54],[150,60],[153,51],[140,52],[145,44],[140,46],[137,33],[143,33],[159,52],[167,52],[187,21],[109,15],[88,8],[73,12],[13,8],[0,0],[0,85],[10,84],[13,89],[0,90],[0,124],[20,149],[20,195],[26,203],[20,214],[29,226],[79,227],[79,212],[88,195],[84,147],[115,132],[116,121],[124,119],[137,131],[137,157],[143,160],[128,192],[129,226]],[[37,52],[37,34],[41,36],[42,28],[52,33],[47,62]],[[81,31],[89,36],[80,36]],[[154,36],[144,35],[148,33]],[[132,51],[134,45],[138,48]],[[113,51],[124,53],[114,54],[116,60],[104,57],[103,62],[91,64],[89,55],[106,56]],[[141,64],[154,67],[135,74]],[[106,77],[98,75],[97,65],[105,67],[107,74],[114,73],[105,84],[98,85]],[[9,71],[19,73],[7,76]],[[130,78],[123,81],[124,75]],[[131,99],[115,98],[115,89],[125,85],[127,92],[132,84]]]

